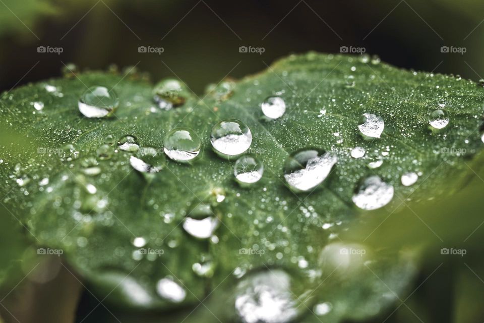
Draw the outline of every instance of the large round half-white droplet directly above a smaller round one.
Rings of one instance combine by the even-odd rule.
[[[223,120],[213,126],[210,142],[215,152],[220,155],[227,157],[237,156],[250,148],[252,132],[240,120]]]

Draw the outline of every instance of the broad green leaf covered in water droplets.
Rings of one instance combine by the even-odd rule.
[[[78,99],[91,86],[118,93],[113,117],[79,113]],[[330,309],[328,321],[364,318],[398,299],[415,271],[414,251],[344,236],[352,224],[385,219],[402,200],[425,203],[461,187],[469,176],[464,158],[482,147],[483,89],[452,76],[396,69],[376,58],[314,52],[210,88],[204,97],[183,94],[185,103],[168,111],[155,105],[152,84],[133,74],[90,72],[6,93],[0,107],[0,131],[7,139],[1,150],[1,192],[7,196],[2,202],[38,245],[62,249],[89,289],[120,306],[173,308],[210,295],[210,311],[229,319],[253,313],[251,307],[234,308],[237,292],[250,289],[251,280],[279,281],[276,291],[286,300],[281,310],[292,311],[283,313],[308,320],[317,320],[308,314],[317,308]],[[285,101],[286,112],[268,121],[260,105],[274,95]],[[37,111],[34,102],[43,109]],[[432,130],[429,115],[437,109],[450,122]],[[365,113],[383,118],[381,138],[360,135],[358,121]],[[264,164],[263,178],[250,187],[234,181],[233,160],[211,149],[212,126],[233,118],[251,129],[249,152]],[[192,129],[202,141],[191,164],[162,152],[163,138],[177,127]],[[158,173],[133,169],[130,157],[143,156],[118,149],[115,142],[126,135],[156,149]],[[357,146],[365,156],[351,157]],[[285,183],[284,164],[307,147],[329,152],[337,163],[315,190],[294,193]],[[86,169],[85,158],[95,159],[91,167],[100,171]],[[382,166],[369,168],[378,158]],[[401,176],[408,172],[419,178],[407,187]],[[364,211],[352,196],[370,176],[392,185],[394,196],[383,208]],[[221,222],[210,239],[183,229],[187,214],[200,205],[210,206]],[[152,254],[134,246],[135,237],[144,238],[142,248]],[[195,274],[194,264],[210,261],[213,277]],[[157,282],[166,277],[184,286],[183,302],[157,295]]]

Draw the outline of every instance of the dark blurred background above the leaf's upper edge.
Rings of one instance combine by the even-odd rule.
[[[177,76],[201,93],[227,74],[257,73],[289,53],[339,52],[340,46],[364,47],[402,68],[474,80],[484,75],[484,4],[477,1],[68,0],[41,2],[48,9],[38,12],[23,6],[15,12],[9,3],[15,2],[0,4],[2,89],[60,76],[64,64],[75,63],[81,69],[137,66],[154,81]],[[38,53],[40,45],[63,52]],[[139,53],[140,45],[164,52]],[[265,52],[240,53],[242,45]],[[443,53],[444,45],[466,52]]]

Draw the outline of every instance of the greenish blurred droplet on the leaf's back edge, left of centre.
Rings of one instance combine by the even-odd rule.
[[[161,102],[163,106],[166,106],[166,101],[168,101],[173,106],[178,106],[184,104],[189,96],[190,90],[187,85],[175,79],[162,80],[153,88],[153,99],[158,105]],[[166,108],[164,109],[168,110]]]

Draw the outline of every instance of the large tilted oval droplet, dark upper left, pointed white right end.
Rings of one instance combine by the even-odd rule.
[[[293,191],[307,192],[326,179],[337,161],[329,152],[299,150],[287,158],[284,179]]]

